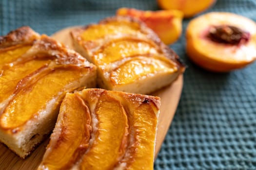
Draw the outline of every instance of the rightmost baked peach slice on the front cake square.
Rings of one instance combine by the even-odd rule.
[[[158,122],[157,110],[157,106],[150,99],[144,99],[133,110],[129,117],[130,145],[115,170],[124,168],[124,165],[126,165],[126,170],[139,170],[143,165],[146,165],[143,170],[154,169],[152,160],[154,160],[155,131]],[[143,165],[141,165],[142,162]]]

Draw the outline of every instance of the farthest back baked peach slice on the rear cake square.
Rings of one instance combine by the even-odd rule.
[[[139,31],[140,27],[137,23],[129,23],[127,21],[112,21],[108,23],[90,25],[81,37],[84,41],[92,41],[99,38],[104,38],[110,34],[131,34]]]

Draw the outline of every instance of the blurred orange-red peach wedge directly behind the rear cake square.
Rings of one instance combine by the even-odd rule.
[[[182,32],[183,14],[178,10],[141,11],[133,8],[120,8],[117,15],[140,19],[167,45],[177,41]]]

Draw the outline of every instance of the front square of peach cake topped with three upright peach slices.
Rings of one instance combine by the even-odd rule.
[[[153,170],[159,107],[141,94],[67,93],[38,170]]]

